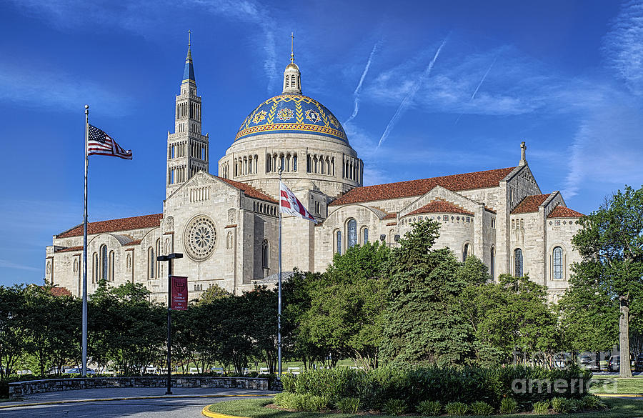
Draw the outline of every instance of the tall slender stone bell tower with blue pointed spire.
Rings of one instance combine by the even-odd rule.
[[[176,96],[174,109],[174,134],[167,133],[166,198],[197,172],[208,172],[209,137],[201,134],[201,97],[196,95],[191,33],[188,32],[181,94]]]

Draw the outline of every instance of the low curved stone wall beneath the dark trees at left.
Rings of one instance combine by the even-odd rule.
[[[43,379],[9,384],[9,399],[29,394],[74,389],[106,389],[110,387],[166,387],[167,377],[89,377],[74,379]],[[172,387],[213,387],[226,389],[268,390],[266,377],[172,377]]]

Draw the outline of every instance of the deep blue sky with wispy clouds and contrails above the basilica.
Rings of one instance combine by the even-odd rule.
[[[162,212],[191,51],[210,171],[281,93],[344,124],[364,184],[516,166],[589,214],[643,179],[643,0],[0,2],[0,285],[43,282],[83,216],[84,105],[134,159],[92,156],[89,221]]]

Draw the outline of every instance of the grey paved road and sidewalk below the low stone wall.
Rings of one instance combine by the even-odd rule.
[[[21,402],[0,404],[0,417],[202,417],[201,409],[214,402],[241,399],[241,396],[274,392],[240,389],[173,389],[174,396],[164,396],[159,388],[86,389],[37,394]],[[141,399],[154,397],[154,399]],[[98,399],[114,399],[101,401]],[[136,399],[139,398],[139,399]],[[45,404],[46,402],[64,402]],[[31,405],[30,405],[31,404]],[[35,405],[34,405],[35,404]],[[9,407],[11,406],[11,407]]]

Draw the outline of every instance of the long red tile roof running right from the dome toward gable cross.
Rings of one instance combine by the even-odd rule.
[[[476,171],[474,173],[454,174],[452,176],[433,177],[431,179],[398,181],[397,183],[377,184],[376,186],[356,187],[344,194],[332,206],[400,197],[422,196],[435,186],[442,186],[452,191],[484,189],[498,186],[499,182],[511,173],[514,167]]]

